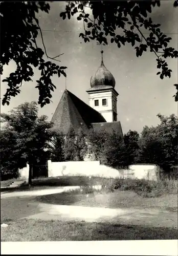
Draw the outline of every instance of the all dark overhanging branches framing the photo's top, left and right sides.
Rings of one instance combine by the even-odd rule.
[[[80,33],[84,42],[97,40],[100,44],[107,45],[108,39],[118,48],[126,42],[135,47],[137,57],[142,56],[148,49],[153,52],[157,60],[157,68],[160,69],[157,75],[160,78],[171,76],[166,59],[177,58],[178,52],[168,46],[171,37],[166,36],[160,30],[160,24],[154,24],[149,14],[152,8],[161,5],[161,1],[83,1],[68,2],[64,12],[60,13],[62,19],[78,14],[77,19],[83,21],[84,33]],[[178,6],[177,0],[174,7]],[[92,14],[86,12],[91,9]],[[54,91],[54,84],[51,77],[55,74],[66,76],[66,67],[59,67],[52,61],[44,60],[46,57],[56,60],[56,57],[49,57],[44,45],[42,32],[36,13],[41,10],[49,13],[50,5],[46,2],[1,2],[1,66],[0,74],[3,74],[4,65],[14,60],[17,68],[9,77],[4,79],[8,89],[3,98],[3,104],[9,104],[10,98],[20,93],[20,86],[23,81],[30,81],[33,76],[33,68],[41,71],[41,77],[37,80],[39,90],[38,103],[45,105],[50,103],[51,91]],[[9,24],[9,16],[13,23]],[[122,30],[117,34],[117,29]],[[142,29],[149,31],[145,37]],[[37,46],[36,37],[38,32],[41,35],[44,52]],[[177,90],[174,95],[178,100],[178,84],[174,84]]]

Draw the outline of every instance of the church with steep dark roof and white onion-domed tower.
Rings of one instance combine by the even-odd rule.
[[[122,127],[118,121],[117,97],[115,78],[103,62],[101,51],[101,65],[90,80],[90,89],[86,90],[89,104],[86,104],[68,90],[63,92],[56,111],[52,117],[54,128],[66,135],[73,125],[75,134],[79,129],[84,134],[93,128],[94,132],[106,131],[118,133],[123,139]]]

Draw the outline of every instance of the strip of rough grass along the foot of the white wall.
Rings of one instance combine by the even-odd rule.
[[[6,191],[18,191],[23,188],[26,189],[27,183],[21,184],[18,188],[4,188]],[[106,193],[115,190],[134,191],[136,194],[144,198],[161,197],[163,195],[177,194],[177,180],[165,179],[158,181],[150,181],[145,179],[121,179],[121,178],[104,178],[104,177],[87,177],[87,176],[58,176],[49,178],[39,178],[32,180],[32,188],[30,189],[44,189],[50,186],[80,186],[83,188],[83,194],[89,194],[95,191],[92,187],[94,185],[101,185],[102,190]],[[29,189],[27,187],[27,189]],[[2,190],[2,189],[1,189]],[[81,191],[79,191],[81,193]]]

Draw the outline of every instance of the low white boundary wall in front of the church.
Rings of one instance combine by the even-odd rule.
[[[154,164],[134,164],[128,169],[117,170],[112,167],[100,165],[99,161],[73,161],[52,162],[48,161],[48,177],[57,176],[96,176],[107,178],[130,178],[157,180],[159,166]],[[29,165],[19,170],[21,179],[28,179]]]

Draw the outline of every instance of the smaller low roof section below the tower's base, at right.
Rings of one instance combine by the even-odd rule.
[[[117,122],[106,122],[106,123],[92,123],[92,127],[94,132],[100,132],[104,130],[107,133],[112,134],[113,132],[120,135],[120,137],[124,140],[122,127],[120,121]]]

